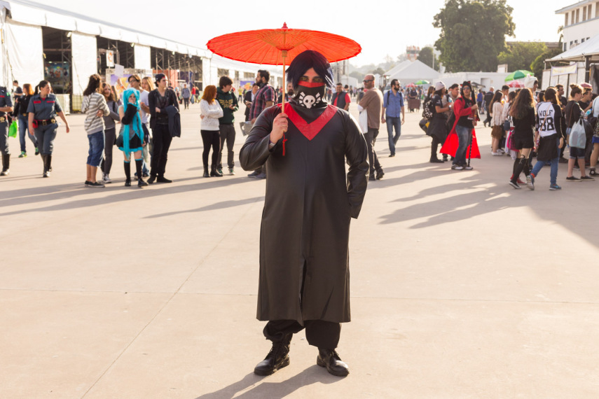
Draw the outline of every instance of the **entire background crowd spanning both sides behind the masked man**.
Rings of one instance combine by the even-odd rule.
[[[99,75],[90,76],[88,87],[83,92],[81,110],[86,115],[85,132],[89,141],[85,186],[104,187],[111,183],[115,144],[125,158],[125,186],[131,184],[131,155],[135,159],[134,177],[139,187],[154,182],[170,183],[171,180],[165,176],[166,164],[172,138],[180,135],[179,104],[184,104],[184,108],[188,108],[189,104],[199,104],[204,144],[203,176],[224,175],[222,158],[225,146],[225,167],[229,175],[234,175],[234,114],[240,102],[246,106],[242,130],[249,132],[264,109],[287,102],[294,96],[294,88],[290,84],[282,92],[270,85],[269,80],[270,73],[260,70],[251,89],[240,87],[235,90],[233,80],[221,76],[218,87],[205,87],[200,99],[200,92],[195,86],[189,89],[185,84],[174,90],[162,73],[155,78],[130,76],[128,91],[121,96],[116,94],[113,86],[102,82]],[[437,82],[429,87],[427,94],[420,94],[419,87],[404,88],[399,80],[394,79],[383,95],[376,87],[374,76],[369,74],[364,78],[363,87],[354,90],[338,83],[334,88],[327,88],[324,97],[345,111],[349,109],[352,98],[357,97],[358,109],[366,116],[362,131],[368,146],[371,181],[383,179],[385,174],[374,150],[380,125],[387,125],[389,156],[394,157],[401,126],[405,122],[406,102],[420,95],[424,97],[424,118],[420,125],[432,138],[429,162],[443,163],[451,158],[451,169],[473,169],[470,158],[478,153],[474,130],[478,121],[483,120],[485,127],[492,128],[490,154],[509,155],[514,160],[509,179],[512,187],[525,185],[534,189],[535,178],[542,167],[548,165],[551,166],[550,188],[559,190],[557,173],[560,162],[568,164],[566,181],[592,181],[599,158],[599,133],[595,126],[599,104],[593,106],[597,94],[593,94],[586,83],[571,85],[570,99],[567,100],[563,85],[537,91],[537,80],[531,78],[529,82],[530,87],[523,89],[510,90],[504,85],[496,91],[493,87],[488,92],[478,90],[476,95],[469,82],[450,87]],[[35,154],[41,155],[42,176],[49,177],[57,118],[63,120],[67,132],[70,130],[69,123],[46,80],[35,88],[29,83],[20,87],[17,81],[13,86],[14,106],[11,93],[0,88],[0,124],[8,127],[11,120],[18,120],[19,157],[27,156],[28,137]],[[305,97],[303,101],[312,99]],[[584,147],[572,146],[569,141],[570,130],[577,124],[584,127]],[[554,142],[557,156],[553,156],[556,155],[553,152]],[[6,134],[0,135],[0,151],[3,162],[0,175],[6,176],[10,173],[11,156]],[[534,167],[533,158],[537,158]],[[98,168],[102,171],[102,179],[96,177]],[[574,169],[579,169],[580,177],[574,176]],[[524,174],[525,181],[520,179],[521,174]],[[259,167],[248,176],[266,179],[266,169]],[[144,178],[149,178],[147,183]]]

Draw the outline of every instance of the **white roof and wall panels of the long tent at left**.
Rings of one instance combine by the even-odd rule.
[[[97,73],[95,36],[133,43],[135,66],[139,69],[151,69],[151,46],[202,59],[212,58],[207,49],[120,27],[69,10],[29,0],[0,0],[0,85],[10,86],[14,79],[29,83],[43,79],[41,27],[71,32],[74,94],[83,92],[80,87],[87,85],[87,76]]]

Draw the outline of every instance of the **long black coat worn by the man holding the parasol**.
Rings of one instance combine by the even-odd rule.
[[[326,109],[293,107],[308,123]],[[354,118],[332,107],[332,118],[311,140],[290,118],[283,156],[282,140],[269,149],[280,112],[279,106],[263,111],[240,151],[243,169],[266,163],[268,176],[257,318],[350,321],[350,218],[358,217],[366,193],[366,141]]]

